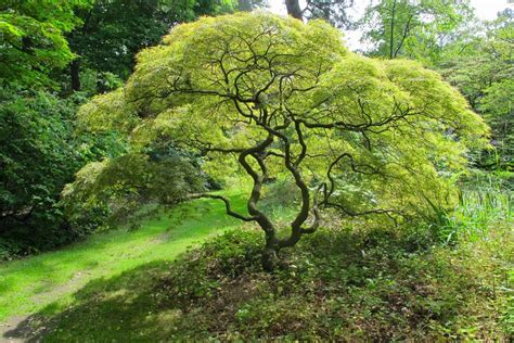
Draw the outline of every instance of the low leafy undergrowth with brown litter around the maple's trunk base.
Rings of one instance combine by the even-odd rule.
[[[175,265],[157,294],[177,310],[172,339],[501,339],[513,236],[490,239],[420,250],[394,230],[324,229],[269,275],[259,234],[230,232]]]

